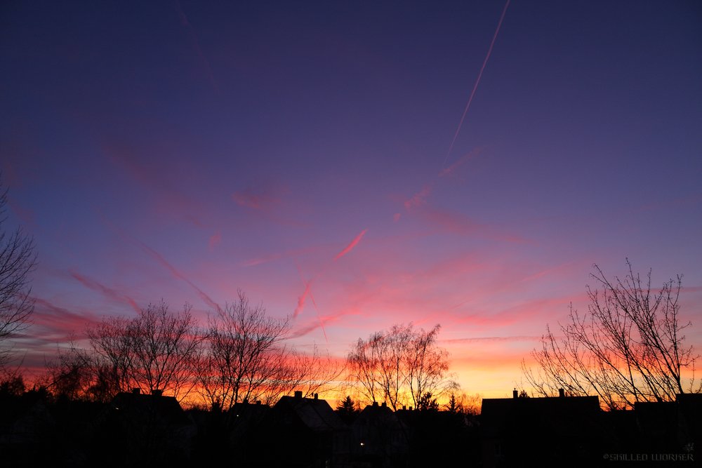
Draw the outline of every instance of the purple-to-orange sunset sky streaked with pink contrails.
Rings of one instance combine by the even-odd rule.
[[[683,274],[702,349],[698,1],[6,1],[6,228],[39,369],[86,324],[243,290],[289,342],[439,323],[522,387],[592,265]]]

